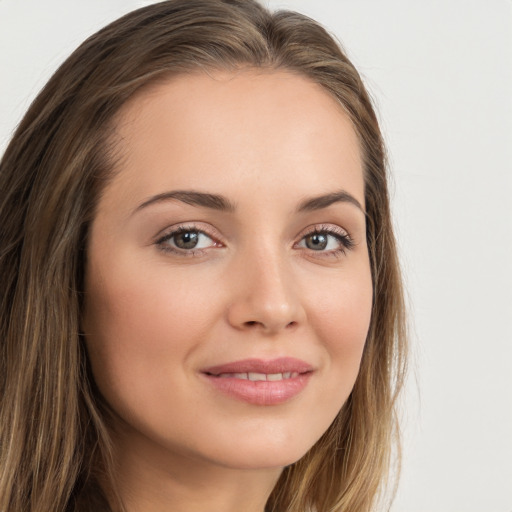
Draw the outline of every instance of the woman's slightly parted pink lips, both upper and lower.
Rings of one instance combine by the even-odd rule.
[[[209,384],[231,398],[253,405],[278,405],[308,384],[314,368],[300,359],[244,359],[201,371]]]

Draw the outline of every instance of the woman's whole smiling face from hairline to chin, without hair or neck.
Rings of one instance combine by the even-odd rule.
[[[285,71],[132,99],[91,227],[83,328],[125,448],[277,468],[325,432],[370,322],[357,136]]]

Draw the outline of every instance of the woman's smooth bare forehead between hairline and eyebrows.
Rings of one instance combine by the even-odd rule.
[[[364,204],[350,119],[323,87],[292,72],[173,77],[132,98],[116,132],[124,157],[119,179],[148,196],[169,187],[222,185],[230,195],[281,185],[302,195],[351,189]]]

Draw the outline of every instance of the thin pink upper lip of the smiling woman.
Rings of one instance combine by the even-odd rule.
[[[203,373],[209,375],[220,375],[222,373],[308,373],[313,371],[313,367],[294,357],[279,357],[277,359],[264,360],[264,359],[242,359],[240,361],[233,361],[230,363],[219,364],[210,366],[202,370]]]

